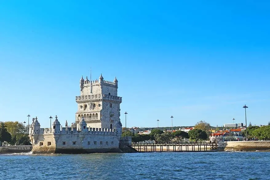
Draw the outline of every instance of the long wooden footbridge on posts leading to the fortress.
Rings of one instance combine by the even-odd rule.
[[[217,150],[217,143],[132,143],[127,145],[138,152],[203,152]]]

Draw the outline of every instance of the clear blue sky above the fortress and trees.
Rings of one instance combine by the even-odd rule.
[[[267,124],[268,1],[1,1],[2,121],[75,120],[81,75],[119,81],[127,126]]]

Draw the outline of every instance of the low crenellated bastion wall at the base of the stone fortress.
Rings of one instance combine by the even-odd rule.
[[[121,152],[120,134],[114,129],[87,128],[80,132],[76,128],[62,128],[59,133],[52,133],[49,128],[40,128],[39,134],[32,135],[33,154]]]

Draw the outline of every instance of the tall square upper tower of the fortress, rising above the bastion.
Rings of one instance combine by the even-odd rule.
[[[87,127],[113,129],[120,122],[120,103],[122,98],[117,96],[118,81],[99,79],[89,81],[87,76],[80,80],[80,96],[76,96],[78,111],[76,112],[77,129],[83,117]]]

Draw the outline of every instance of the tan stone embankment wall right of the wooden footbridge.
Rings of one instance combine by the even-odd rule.
[[[270,141],[227,141],[219,142],[218,150],[228,151],[256,151],[270,150]]]

